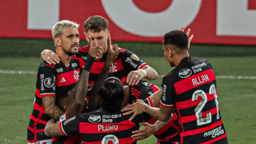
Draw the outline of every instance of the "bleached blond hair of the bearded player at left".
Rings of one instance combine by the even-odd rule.
[[[62,20],[57,22],[53,27],[52,27],[52,38],[59,37],[63,33],[64,28],[79,28],[79,24],[76,22],[72,22],[69,20]]]

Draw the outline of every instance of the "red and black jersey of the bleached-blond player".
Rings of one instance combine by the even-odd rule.
[[[30,115],[27,130],[28,142],[51,139],[44,134],[44,127],[51,117],[45,112],[42,98],[56,96],[58,99],[64,91],[67,92],[75,87],[79,74],[80,63],[74,56],[72,56],[68,67],[61,61],[56,65],[50,65],[45,61],[41,62],[36,79],[33,112]]]

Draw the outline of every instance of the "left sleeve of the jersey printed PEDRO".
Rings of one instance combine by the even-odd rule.
[[[79,115],[59,123],[60,131],[64,136],[79,134]]]

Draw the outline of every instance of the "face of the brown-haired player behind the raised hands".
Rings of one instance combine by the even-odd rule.
[[[108,44],[108,30],[101,30],[100,32],[94,32],[93,30],[88,30],[86,33],[86,40],[89,42],[88,36],[92,38],[92,46],[100,46],[104,49],[104,52],[107,50]]]

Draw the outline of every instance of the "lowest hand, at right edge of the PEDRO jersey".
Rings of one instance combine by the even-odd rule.
[[[140,126],[144,126],[141,130],[136,130],[132,132],[132,138],[134,140],[144,140],[155,133],[156,128],[149,123],[139,123]]]

